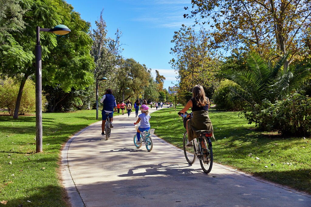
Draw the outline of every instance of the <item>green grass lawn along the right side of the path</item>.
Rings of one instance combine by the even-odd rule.
[[[177,115],[180,109],[156,111],[150,124],[157,136],[182,149],[186,130]],[[239,112],[210,110],[209,115],[218,142],[212,140],[215,162],[311,194],[310,137],[255,131]]]

